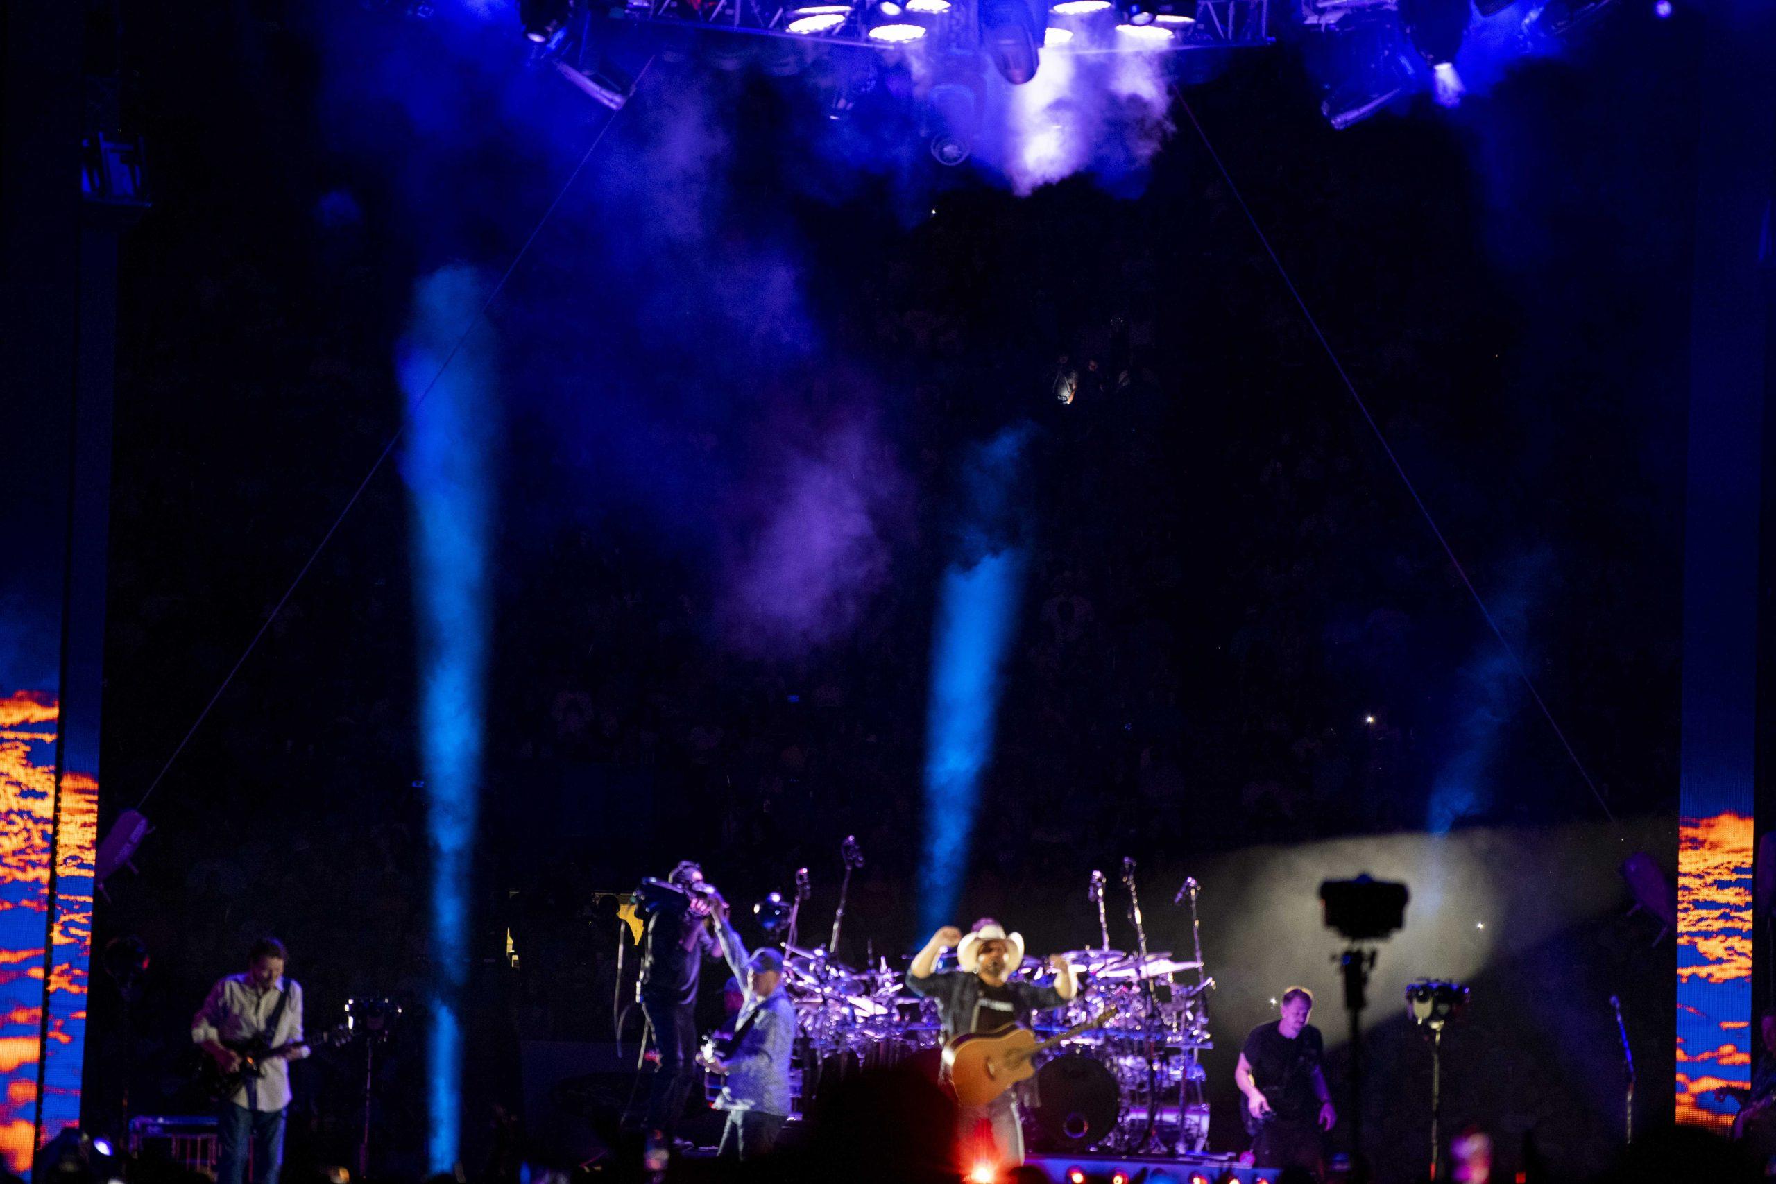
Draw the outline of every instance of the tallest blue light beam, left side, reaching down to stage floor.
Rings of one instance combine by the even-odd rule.
[[[428,1138],[432,1172],[458,1159],[462,1024],[469,969],[469,886],[481,779],[487,667],[487,556],[492,522],[492,339],[480,311],[481,282],[464,266],[414,286],[414,312],[398,373],[407,398],[407,481],[414,604],[419,630],[419,756],[432,850],[432,998],[428,1001]],[[439,367],[446,364],[442,375]]]

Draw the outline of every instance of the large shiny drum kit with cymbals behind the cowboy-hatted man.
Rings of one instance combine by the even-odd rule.
[[[854,841],[845,850],[845,872],[861,864]],[[1041,1038],[1058,1035],[1115,1008],[1110,1022],[1073,1035],[1037,1069],[1025,1095],[1025,1127],[1037,1150],[1179,1156],[1208,1145],[1209,1108],[1202,1051],[1213,1047],[1208,1031],[1208,994],[1215,980],[1202,969],[1197,925],[1197,882],[1186,880],[1174,904],[1188,898],[1193,957],[1147,950],[1135,889],[1135,864],[1124,859],[1122,882],[1130,895],[1135,950],[1110,946],[1105,916],[1105,877],[1092,872],[1090,900],[1098,905],[1099,944],[1067,951],[1080,983],[1062,1010],[1039,1015]],[[806,895],[806,873],[797,875],[797,900],[765,902],[755,912],[776,911],[767,925],[783,943],[783,985],[796,1003],[797,1063],[792,1086],[797,1111],[821,1090],[868,1069],[908,1065],[938,1076],[943,1046],[936,1005],[906,989],[906,967],[879,959],[858,969],[835,955],[838,927],[824,946],[796,943],[794,914]],[[842,893],[844,895],[844,893]],[[1016,976],[1044,973],[1025,959]]]

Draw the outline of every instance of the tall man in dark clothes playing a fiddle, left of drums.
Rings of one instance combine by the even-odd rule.
[[[698,1079],[698,971],[705,957],[721,957],[721,944],[709,927],[712,904],[698,893],[702,882],[703,870],[686,861],[666,880],[643,880],[636,893],[648,918],[641,937],[641,1010],[661,1058],[643,1117],[648,1168],[654,1172],[666,1168],[673,1125]]]

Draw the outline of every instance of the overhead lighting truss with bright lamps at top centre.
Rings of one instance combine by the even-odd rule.
[[[892,5],[892,7],[890,7]],[[1105,5],[1099,18],[1115,27],[1115,7]],[[1193,12],[1193,16],[1190,16]],[[884,16],[886,14],[886,16]],[[611,11],[613,18],[661,28],[709,28],[719,32],[785,37],[813,44],[845,44],[879,51],[902,48],[909,39],[959,48],[979,44],[973,0],[627,0]],[[892,23],[899,36],[884,37]],[[1179,5],[1177,14],[1160,18],[1154,36],[1130,44],[1114,36],[1089,36],[1090,18],[1050,18],[1051,28],[1074,34],[1048,46],[1066,53],[1153,53],[1181,50],[1225,50],[1270,43],[1270,0],[1197,0]],[[1163,28],[1169,41],[1158,36]],[[872,36],[876,30],[876,36]],[[915,36],[913,30],[918,30]],[[1087,34],[1087,36],[1080,36]]]

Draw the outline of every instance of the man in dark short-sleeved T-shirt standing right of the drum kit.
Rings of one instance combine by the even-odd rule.
[[[1305,987],[1282,992],[1279,1017],[1247,1035],[1234,1069],[1245,1093],[1252,1157],[1266,1168],[1307,1168],[1320,1179],[1321,1133],[1337,1124],[1321,1060],[1325,1042],[1307,1022],[1314,996]]]

